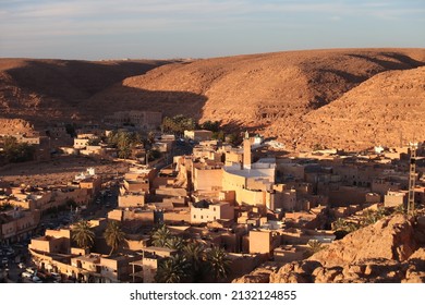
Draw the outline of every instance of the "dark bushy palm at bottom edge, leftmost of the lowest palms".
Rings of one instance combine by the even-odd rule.
[[[181,283],[187,280],[187,271],[186,258],[177,254],[159,263],[155,281],[158,283]]]

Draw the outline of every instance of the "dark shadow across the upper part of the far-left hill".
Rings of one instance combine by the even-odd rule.
[[[42,97],[60,98],[73,106],[126,77],[171,62],[28,60],[27,64],[10,69],[8,73],[21,88]]]

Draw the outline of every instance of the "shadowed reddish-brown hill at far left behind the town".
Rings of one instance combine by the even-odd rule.
[[[169,61],[0,59],[0,119],[40,123],[84,117],[84,102],[90,96],[166,63]]]

